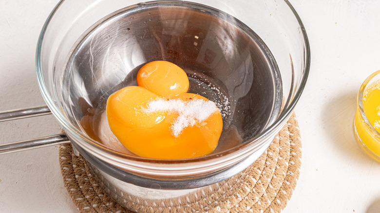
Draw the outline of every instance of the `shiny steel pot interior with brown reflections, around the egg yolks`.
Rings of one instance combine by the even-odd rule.
[[[223,132],[211,155],[252,139],[278,117],[282,81],[263,40],[225,12],[169,1],[123,8],[77,40],[65,70],[56,75],[67,118],[105,144],[109,139],[100,136],[99,121],[107,98],[136,85],[139,68],[155,60],[180,66],[188,74],[189,92],[221,109]],[[94,117],[91,128],[81,123],[84,116]]]

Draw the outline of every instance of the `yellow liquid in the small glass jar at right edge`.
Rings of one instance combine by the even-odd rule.
[[[363,94],[363,109],[364,113],[370,122],[375,127],[377,133],[380,132],[380,81],[372,84]],[[380,160],[380,138],[376,136],[376,132],[371,131],[368,124],[365,124],[359,107],[355,115],[355,129],[361,145],[372,157]],[[379,134],[378,134],[379,135]]]

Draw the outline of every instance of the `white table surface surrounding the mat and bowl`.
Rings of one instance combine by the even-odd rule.
[[[58,0],[0,0],[0,111],[44,105],[35,74],[40,29]],[[380,1],[290,0],[311,46],[296,113],[302,166],[284,213],[379,213],[380,163],[353,133],[356,94],[380,70]],[[0,123],[0,143],[60,133],[52,115]],[[0,156],[1,213],[76,213],[58,148]]]

